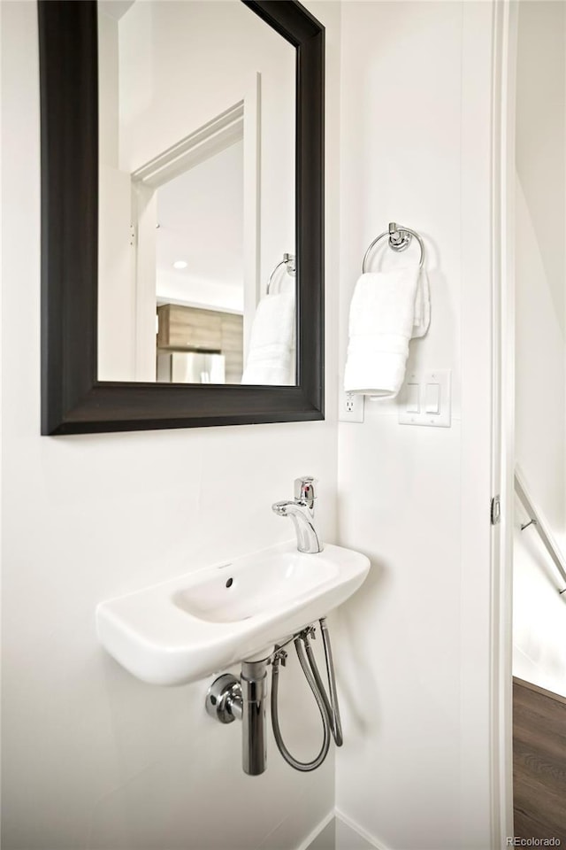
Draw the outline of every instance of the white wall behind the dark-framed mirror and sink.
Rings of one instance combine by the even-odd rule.
[[[333,806],[332,758],[302,776],[270,740],[266,775],[244,777],[239,730],[204,714],[208,683],[137,682],[94,623],[101,599],[292,537],[271,503],[295,475],[321,480],[335,539],[340,7],[312,8],[329,27],[326,421],[40,437],[36,8],[1,4],[4,850],[288,850]],[[287,691],[283,707],[303,757],[318,734],[309,699],[297,711]]]

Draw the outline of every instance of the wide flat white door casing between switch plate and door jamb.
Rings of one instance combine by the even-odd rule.
[[[460,829],[501,847],[493,788],[493,60],[497,3],[463,4]]]

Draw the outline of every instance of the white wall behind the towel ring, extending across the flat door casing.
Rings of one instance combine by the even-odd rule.
[[[491,846],[491,14],[342,7],[340,364],[363,252],[394,220],[424,237],[431,282],[409,367],[454,379],[450,429],[367,400],[362,425],[339,427],[340,542],[372,567],[340,609],[336,802],[396,850]]]

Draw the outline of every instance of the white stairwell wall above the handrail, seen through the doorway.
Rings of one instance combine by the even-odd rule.
[[[519,4],[516,460],[556,531],[566,529],[565,19],[562,3]]]

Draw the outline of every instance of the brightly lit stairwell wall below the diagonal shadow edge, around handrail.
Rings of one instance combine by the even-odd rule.
[[[564,336],[518,177],[515,221],[516,461],[566,555]],[[521,531],[528,521],[516,499],[513,674],[566,696],[566,605],[557,592],[563,582],[536,529]]]

